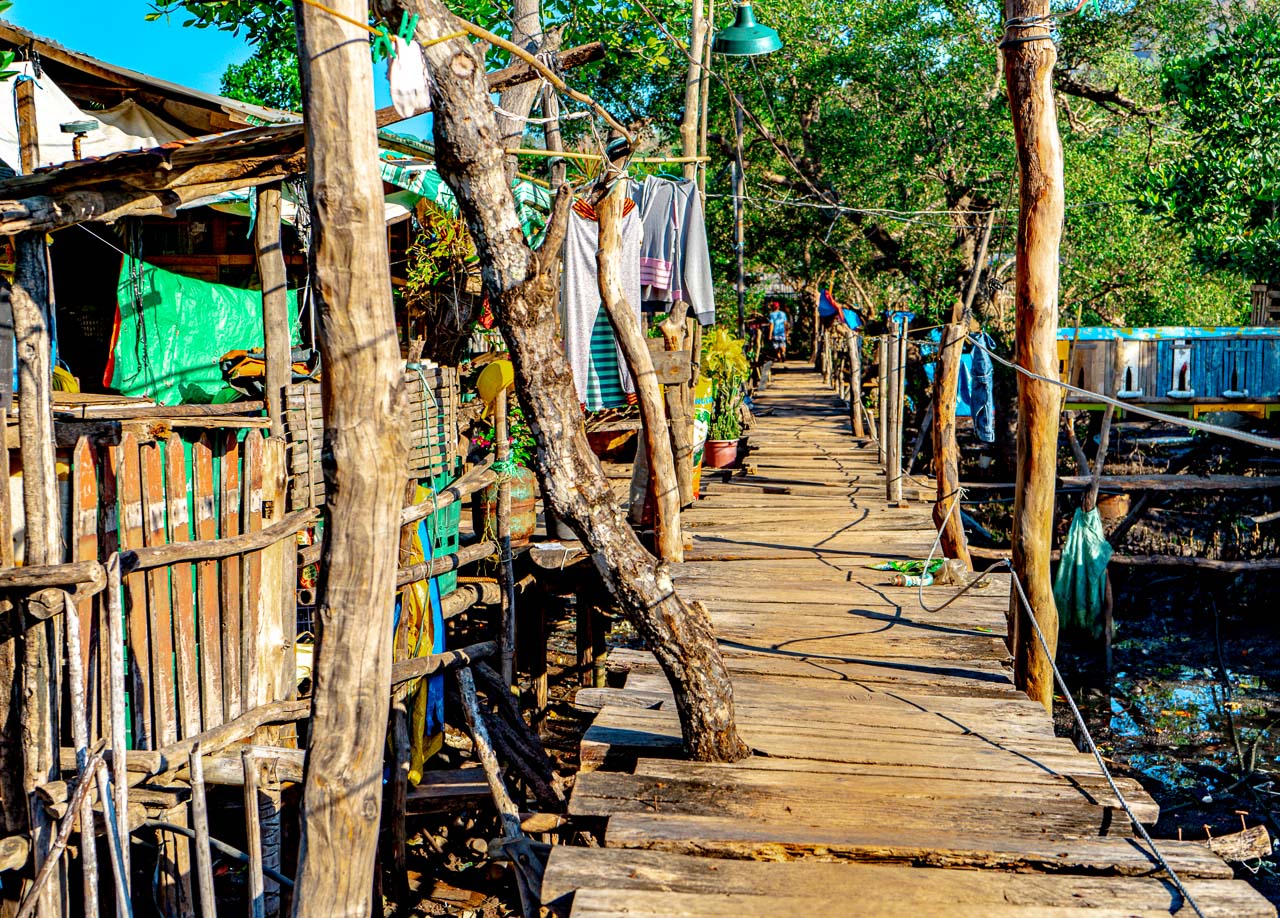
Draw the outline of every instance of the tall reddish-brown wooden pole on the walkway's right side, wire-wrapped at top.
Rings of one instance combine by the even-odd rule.
[[[1046,17],[1048,0],[1006,0],[1005,17],[1025,22]],[[1010,28],[1005,40],[1005,82],[1018,147],[1019,204],[1016,353],[1018,365],[1056,379],[1059,243],[1062,237],[1062,145],[1053,106],[1057,51],[1047,26]],[[1051,383],[1018,378],[1018,490],[1011,542],[1014,572],[1036,620],[1057,647],[1057,607],[1050,576],[1057,426],[1061,398]],[[1046,708],[1053,705],[1051,659],[1036,638],[1016,590],[1012,597],[1014,677]]]

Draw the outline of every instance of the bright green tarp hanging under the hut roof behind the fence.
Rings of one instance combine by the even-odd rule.
[[[131,257],[120,266],[111,360],[104,383],[161,405],[211,402],[223,388],[218,361],[262,347],[262,294],[196,280]],[[297,291],[289,323],[298,343]]]

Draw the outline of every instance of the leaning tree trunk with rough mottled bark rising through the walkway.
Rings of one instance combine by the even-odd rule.
[[[424,42],[454,31],[452,14],[438,0],[403,1],[421,17]],[[698,603],[680,599],[667,566],[640,544],[586,442],[554,307],[570,196],[562,189],[557,197],[547,241],[535,256],[525,245],[503,173],[480,59],[462,41],[430,45],[426,55],[436,82],[436,165],[476,243],[485,289],[538,439],[543,494],[590,548],[605,584],[667,673],[689,754],[701,761],[740,759],[749,750],[737,736],[732,685],[710,618]]]

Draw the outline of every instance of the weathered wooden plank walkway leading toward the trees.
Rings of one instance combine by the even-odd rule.
[[[580,691],[603,707],[570,809],[607,819],[605,844],[554,848],[544,903],[579,918],[1178,910],[1092,757],[1014,689],[1007,576],[920,611],[868,566],[924,557],[928,506],[884,506],[874,448],[815,374],[774,371],[758,403],[751,467],[704,485],[677,572],[710,609],[755,755],[676,758],[666,679],[616,650],[625,688]],[[1203,845],[1161,850],[1206,914],[1275,915]]]

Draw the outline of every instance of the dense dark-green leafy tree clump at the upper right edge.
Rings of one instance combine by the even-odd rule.
[[[1189,234],[1201,265],[1280,279],[1280,13],[1171,60],[1162,86],[1187,141],[1139,183],[1146,209]]]

